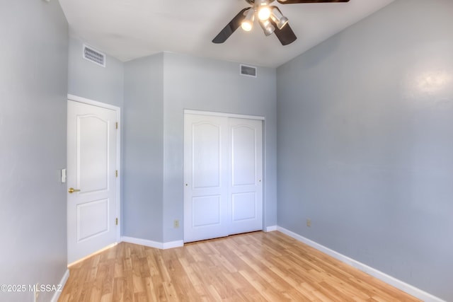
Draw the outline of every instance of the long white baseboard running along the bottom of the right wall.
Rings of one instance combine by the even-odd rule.
[[[331,250],[330,248],[326,248],[323,245],[320,245],[319,243],[314,242],[313,240],[310,240],[308,238],[305,238],[304,236],[300,236],[297,233],[294,233],[292,231],[287,230],[286,228],[282,228],[280,226],[277,226],[277,231],[280,231],[284,234],[286,234],[289,237],[292,237],[296,240],[299,240],[302,243],[305,243],[306,245],[310,245],[312,248],[316,248],[316,250],[320,250],[321,252],[336,258],[337,260],[340,260],[341,262],[344,262],[352,267],[355,267],[356,269],[360,269],[362,272],[365,272],[379,280],[382,280],[386,282],[386,284],[389,284],[391,286],[396,287],[397,289],[401,289],[401,291],[406,292],[407,294],[410,294],[414,296],[415,298],[419,298],[422,301],[425,302],[445,302],[441,298],[437,298],[436,296],[433,296],[432,294],[427,293],[426,291],[423,291],[421,289],[416,288],[415,286],[412,286],[411,284],[407,284],[406,282],[403,282],[401,280],[398,280],[394,277],[391,277],[388,274],[385,274],[384,272],[381,272],[377,269],[374,269],[373,267],[369,267],[368,265],[363,264],[362,262],[359,262],[357,260],[354,260],[348,256],[345,256],[343,254],[340,254],[339,252],[336,252],[335,250]]]

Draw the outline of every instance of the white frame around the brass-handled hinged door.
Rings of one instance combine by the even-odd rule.
[[[116,166],[118,167],[118,177],[116,178],[116,216],[118,217],[118,225],[116,228],[116,242],[120,242],[121,238],[121,108],[98,102],[97,100],[90,100],[88,98],[82,98],[77,95],[71,95],[68,93],[68,100],[73,100],[74,102],[84,103],[87,105],[93,105],[96,107],[101,107],[105,109],[110,109],[116,112],[116,120],[118,121],[118,131],[117,131],[117,140],[116,140]]]

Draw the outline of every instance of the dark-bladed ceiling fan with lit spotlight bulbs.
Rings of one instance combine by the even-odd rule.
[[[212,42],[223,43],[230,35],[234,33],[239,26],[250,31],[253,28],[253,21],[258,18],[261,28],[265,35],[275,33],[282,45],[288,45],[294,42],[297,37],[289,27],[288,18],[283,16],[277,6],[270,6],[275,0],[245,0],[251,7],[243,8],[234,18],[226,24],[224,29],[214,37]],[[331,2],[349,2],[349,0],[277,0],[280,4],[302,4],[302,3],[331,3]]]

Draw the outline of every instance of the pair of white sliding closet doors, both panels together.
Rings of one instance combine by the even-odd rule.
[[[184,241],[263,229],[261,120],[185,114]]]

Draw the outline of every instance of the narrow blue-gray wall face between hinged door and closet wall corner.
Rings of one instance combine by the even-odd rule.
[[[122,235],[162,242],[164,54],[125,63]]]

